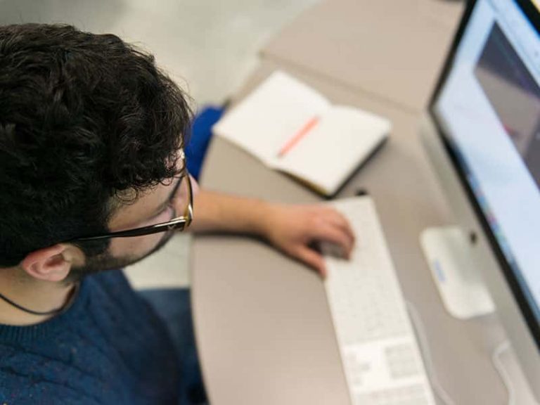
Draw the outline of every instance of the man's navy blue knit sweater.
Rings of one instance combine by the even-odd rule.
[[[82,281],[72,307],[0,325],[0,404],[177,404],[172,341],[122,271]]]

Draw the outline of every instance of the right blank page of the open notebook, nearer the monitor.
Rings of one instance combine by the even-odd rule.
[[[333,194],[391,127],[390,121],[378,115],[336,106],[274,165]]]

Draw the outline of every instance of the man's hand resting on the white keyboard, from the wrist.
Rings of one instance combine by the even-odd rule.
[[[310,247],[312,243],[334,243],[347,258],[354,246],[354,233],[347,219],[331,207],[272,204],[262,220],[263,236],[276,248],[316,269],[323,278],[324,259]]]

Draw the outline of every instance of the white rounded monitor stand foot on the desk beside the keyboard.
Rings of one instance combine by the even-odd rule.
[[[470,242],[457,226],[425,229],[420,245],[444,307],[458,319],[489,314],[495,307],[470,259]]]

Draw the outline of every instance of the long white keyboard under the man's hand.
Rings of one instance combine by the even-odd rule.
[[[352,403],[435,405],[373,200],[333,206],[356,235],[350,261],[325,256],[326,294]]]

